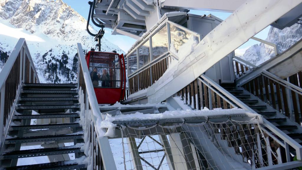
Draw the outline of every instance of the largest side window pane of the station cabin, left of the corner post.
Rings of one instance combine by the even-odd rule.
[[[168,34],[166,25],[152,36],[152,60],[168,51]]]

